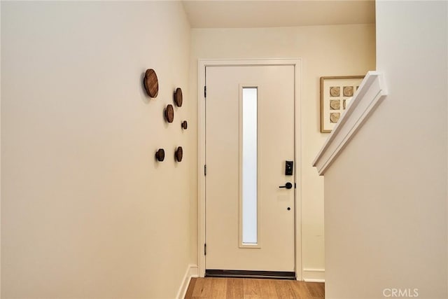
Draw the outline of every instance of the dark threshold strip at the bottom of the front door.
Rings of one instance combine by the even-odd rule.
[[[264,278],[295,280],[295,272],[251,270],[205,270],[205,277]]]

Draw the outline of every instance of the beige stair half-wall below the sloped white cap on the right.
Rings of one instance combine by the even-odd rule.
[[[325,172],[326,298],[448,297],[447,28],[446,1],[377,1],[389,95]]]

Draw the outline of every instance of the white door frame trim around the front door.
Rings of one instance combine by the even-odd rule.
[[[266,59],[266,60],[199,60],[198,62],[198,268],[199,276],[205,274],[205,67],[210,66],[251,66],[251,65],[293,65],[294,66],[294,142],[295,142],[295,274],[297,280],[302,280],[302,118],[300,117],[300,94],[302,88],[302,60],[294,59]]]

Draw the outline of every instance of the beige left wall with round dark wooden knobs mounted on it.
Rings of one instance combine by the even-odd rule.
[[[196,116],[182,4],[1,6],[2,298],[174,298],[196,163],[180,125]],[[186,98],[167,125],[177,87]]]

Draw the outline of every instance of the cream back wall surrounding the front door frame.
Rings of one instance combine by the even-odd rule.
[[[269,29],[192,29],[190,108],[197,139],[197,60],[225,58],[302,58],[302,265],[324,263],[323,179],[311,162],[328,134],[320,133],[319,78],[365,74],[374,69],[374,25]],[[197,144],[195,144],[197,153]],[[190,175],[197,178],[193,165]],[[191,181],[191,253],[197,263],[197,181]],[[193,194],[193,193],[192,193]],[[307,275],[305,275],[306,277]]]

